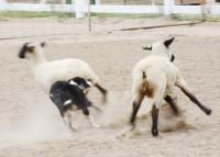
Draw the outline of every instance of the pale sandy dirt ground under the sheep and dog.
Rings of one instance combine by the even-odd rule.
[[[91,33],[86,20],[75,23],[72,34],[0,41],[0,157],[219,157],[220,23],[123,32],[119,30],[174,21],[95,19]],[[185,111],[183,116],[166,116],[166,110],[161,110],[158,137],[152,137],[147,117],[138,121],[134,134],[123,137],[132,106],[132,67],[147,55],[142,46],[169,35],[176,36],[170,47],[176,55],[175,65],[212,114],[205,115],[176,90],[178,104]],[[74,57],[90,64],[109,90],[108,104],[100,105],[103,113],[91,110],[102,128],[90,127],[80,112],[75,116],[77,133],[63,124],[48,94],[35,83],[28,61],[18,58],[21,45],[30,41],[48,43],[48,60]],[[101,103],[96,89],[91,89],[89,97],[97,105]],[[141,112],[146,113],[144,106],[145,102]],[[162,132],[162,127],[176,124],[175,131]]]

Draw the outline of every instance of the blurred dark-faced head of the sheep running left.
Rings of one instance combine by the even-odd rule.
[[[19,58],[29,58],[36,53],[36,47],[45,47],[45,43],[25,43],[19,52]]]

